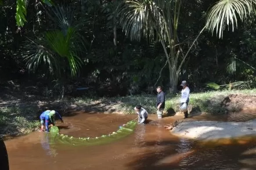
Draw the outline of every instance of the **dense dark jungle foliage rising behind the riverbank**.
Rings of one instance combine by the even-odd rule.
[[[221,1],[217,5],[227,6]],[[256,22],[254,15],[241,21],[253,11],[246,0],[232,0],[239,15],[230,22],[231,31],[224,29],[227,20],[214,22],[221,16],[208,11],[212,0],[173,0],[169,6],[164,0],[133,2],[137,6],[123,0],[3,0],[0,86],[33,85],[45,96],[74,95],[79,87],[89,87],[83,94],[91,96],[152,93],[158,85],[167,92],[183,79],[193,91],[205,90],[209,82],[222,85],[208,84],[217,88],[256,87]],[[198,36],[206,24],[210,31]]]

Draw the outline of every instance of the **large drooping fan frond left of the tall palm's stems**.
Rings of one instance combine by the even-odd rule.
[[[153,40],[159,35],[166,40],[169,35],[168,23],[154,0],[126,0],[119,16],[123,31],[131,40],[140,41],[142,37]]]

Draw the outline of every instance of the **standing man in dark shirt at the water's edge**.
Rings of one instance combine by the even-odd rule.
[[[156,91],[157,91],[157,98],[156,98],[156,114],[157,114],[157,117],[159,119],[162,118],[162,112],[165,108],[165,94],[164,92],[162,91],[162,88],[161,86],[158,86],[156,88]]]

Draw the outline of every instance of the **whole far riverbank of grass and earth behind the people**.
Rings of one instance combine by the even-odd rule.
[[[191,93],[190,113],[225,114],[256,106],[256,89]],[[26,95],[24,92],[8,92],[0,97],[0,136],[23,135],[39,127],[38,117],[43,110],[58,110],[61,115],[84,111],[87,113],[134,113],[141,104],[149,113],[155,113],[155,95],[126,96],[115,98],[72,98],[62,100]],[[166,95],[165,116],[179,111],[180,94]],[[72,114],[71,114],[72,115]]]

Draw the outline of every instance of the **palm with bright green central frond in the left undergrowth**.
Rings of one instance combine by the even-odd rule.
[[[47,31],[35,40],[29,39],[24,45],[23,56],[29,71],[44,66],[45,71],[60,81],[63,98],[65,81],[77,76],[83,64],[79,54],[84,40],[79,35],[78,25],[72,22],[74,13],[71,8],[57,6],[53,12],[60,29]]]

